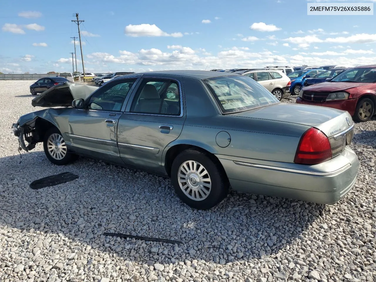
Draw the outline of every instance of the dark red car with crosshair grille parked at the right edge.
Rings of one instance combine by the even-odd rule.
[[[331,80],[302,88],[298,104],[348,111],[355,121],[367,121],[376,114],[376,65],[343,71]]]

